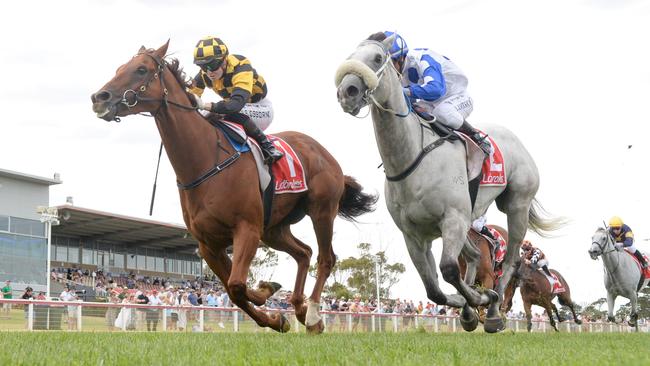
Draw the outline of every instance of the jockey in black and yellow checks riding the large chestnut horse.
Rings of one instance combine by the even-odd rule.
[[[282,158],[282,152],[262,132],[273,121],[273,105],[266,99],[264,78],[250,61],[244,56],[230,54],[221,39],[209,36],[196,44],[194,63],[201,68],[190,89],[196,96],[197,107],[242,125],[246,134],[260,145],[268,163]],[[206,87],[212,88],[223,100],[203,102],[201,95]]]

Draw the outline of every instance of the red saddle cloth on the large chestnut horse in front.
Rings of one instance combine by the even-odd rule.
[[[240,152],[250,151],[255,157],[258,175],[260,177],[260,188],[265,191],[271,181],[268,165],[264,164],[262,149],[253,139],[246,137],[244,128],[237,123],[223,121],[224,125],[235,131],[242,139],[246,140],[246,147],[237,146],[236,142],[230,140],[235,149]],[[227,135],[226,135],[227,136]],[[284,158],[276,161],[271,167],[275,182],[275,194],[281,193],[299,193],[308,189],[305,171],[300,158],[291,146],[281,138],[273,135],[267,135],[275,147],[284,153]]]

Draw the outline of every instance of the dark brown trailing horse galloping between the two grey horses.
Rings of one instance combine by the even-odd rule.
[[[512,308],[512,298],[515,295],[515,290],[519,287],[521,299],[524,301],[524,311],[526,312],[526,328],[529,332],[533,326],[533,315],[531,312],[532,305],[543,307],[544,310],[546,310],[546,314],[548,314],[551,326],[556,332],[559,331],[555,324],[555,319],[553,319],[553,312],[555,312],[558,321],[562,322],[564,319],[560,317],[560,313],[553,303],[555,296],[557,296],[560,305],[567,306],[571,310],[575,323],[582,324],[582,321],[578,319],[578,316],[576,315],[574,308],[575,304],[573,303],[573,300],[571,300],[569,284],[566,282],[564,277],[562,277],[560,272],[554,269],[550,269],[550,271],[560,280],[562,286],[564,286],[566,290],[565,292],[559,294],[553,293],[551,284],[548,282],[546,275],[541,271],[534,269],[530,264],[525,264],[523,260],[519,262],[517,270],[510,279],[510,282],[508,282],[508,287],[506,288],[503,299],[503,306],[505,307],[504,311],[508,312],[510,311],[510,308]]]

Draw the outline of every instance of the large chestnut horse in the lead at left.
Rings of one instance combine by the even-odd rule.
[[[377,197],[362,192],[343,175],[336,160],[316,140],[298,132],[282,132],[303,163],[309,190],[276,195],[266,227],[260,185],[252,154],[239,154],[223,132],[193,107],[188,80],[178,60],[165,60],[169,41],[157,50],[140,48],[116,75],[92,95],[93,111],[107,121],[149,112],[176,173],[183,219],[199,242],[199,252],[226,287],[232,301],[262,327],[287,332],[282,315],[267,315],[264,305],[279,288],[266,283],[246,286],[251,261],[260,241],[291,255],[297,265],[291,303],[309,332],[320,333],[320,296],[336,261],[332,249],[335,217],[354,220],[374,210]],[[305,304],[304,286],[312,250],[297,239],[290,226],[311,218],[318,242],[318,273]],[[226,248],[232,245],[232,260]]]

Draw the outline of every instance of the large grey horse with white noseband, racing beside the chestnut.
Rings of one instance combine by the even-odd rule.
[[[363,41],[338,68],[339,103],[343,111],[355,116],[362,107],[370,105],[379,154],[387,177],[393,177],[385,183],[386,204],[404,235],[427,297],[438,304],[463,308],[461,323],[469,331],[476,328],[477,318],[468,306],[489,306],[484,329],[490,333],[500,331],[504,322],[499,306],[527,227],[546,235],[563,222],[541,217],[541,207],[534,198],[539,187],[537,167],[519,139],[499,126],[483,126],[483,131],[501,147],[508,182],[501,187],[481,187],[472,210],[465,147],[462,143],[440,141],[427,123],[410,112],[399,73],[388,56],[392,42],[393,37],[382,42]],[[421,154],[426,150],[426,154]],[[419,165],[414,165],[414,161]],[[503,278],[496,288],[499,296],[491,290],[479,293],[468,284],[474,281],[478,259],[472,259],[476,252],[466,235],[471,220],[484,214],[494,201],[507,215],[510,233]],[[431,245],[440,237],[440,271],[458,294],[444,294],[438,285]],[[471,262],[465,282],[458,268],[461,251],[468,254]]]

